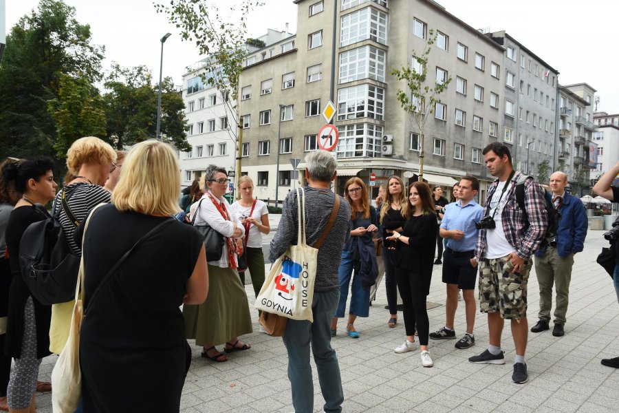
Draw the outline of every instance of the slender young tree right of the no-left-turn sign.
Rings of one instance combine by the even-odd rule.
[[[428,55],[432,50],[432,45],[436,41],[434,30],[428,30],[428,40],[424,50],[420,53],[413,50],[413,67],[411,65],[402,66],[400,69],[391,70],[391,75],[398,81],[406,83],[406,90],[398,89],[396,94],[400,106],[409,114],[411,127],[417,129],[420,135],[419,152],[419,179],[424,175],[424,131],[428,117],[434,113],[435,105],[440,103],[438,98],[451,82],[451,77],[444,78],[442,81],[430,85],[428,77]]]

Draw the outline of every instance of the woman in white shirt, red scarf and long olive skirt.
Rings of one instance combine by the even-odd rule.
[[[245,234],[239,217],[230,208],[224,193],[228,189],[226,169],[209,165],[204,173],[204,195],[197,205],[195,225],[208,224],[224,236],[224,248],[217,261],[208,264],[208,296],[197,306],[185,305],[183,315],[187,339],[202,346],[202,357],[219,363],[228,356],[215,348],[224,344],[224,352],[248,350],[251,346],[239,336],[252,332],[245,288],[237,273],[240,249],[235,240]]]

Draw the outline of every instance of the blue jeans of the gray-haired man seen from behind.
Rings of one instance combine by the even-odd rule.
[[[288,379],[292,388],[292,404],[296,413],[314,411],[314,382],[310,366],[310,343],[318,381],[325,398],[325,412],[341,412],[344,390],[340,366],[331,347],[331,319],[335,313],[340,289],[314,293],[314,322],[288,320],[283,342],[288,353]]]

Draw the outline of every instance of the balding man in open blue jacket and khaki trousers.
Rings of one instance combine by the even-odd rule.
[[[549,330],[550,309],[552,308],[552,285],[556,289],[554,308],[554,328],[552,335],[565,334],[563,325],[569,302],[569,280],[572,279],[574,254],[583,251],[587,236],[587,214],[583,202],[565,192],[567,175],[555,172],[550,176],[552,202],[561,217],[558,220],[556,237],[550,244],[542,244],[535,253],[535,273],[539,283],[539,321],[531,328],[532,332]]]

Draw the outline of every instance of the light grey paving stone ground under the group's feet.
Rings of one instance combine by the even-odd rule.
[[[595,259],[607,242],[603,231],[589,231],[585,251],[575,257],[570,303],[564,337],[550,331],[529,333],[527,363],[529,382],[512,383],[514,343],[509,324],[503,331],[503,366],[477,365],[468,357],[488,345],[486,316],[476,317],[477,345],[457,350],[455,340],[430,341],[433,368],[423,368],[419,352],[396,354],[393,348],[404,340],[401,319],[395,328],[387,327],[389,313],[384,288],[379,288],[370,316],[359,318],[359,339],[341,332],[333,341],[342,372],[344,412],[619,412],[619,370],[600,364],[600,359],[619,356],[619,305],[610,277]],[[253,290],[246,286],[250,306]],[[428,301],[444,303],[445,287],[441,266],[434,267]],[[539,287],[534,271],[528,288],[529,321],[537,321]],[[428,310],[431,331],[444,325],[444,305]],[[243,336],[252,349],[232,354],[227,363],[202,359],[193,346],[193,361],[187,375],[181,412],[292,412],[287,359],[280,338],[257,332],[257,312],[252,311],[254,330]],[[456,313],[455,330],[465,330],[464,301]],[[47,357],[41,365],[40,379],[50,379],[56,361]],[[321,412],[321,396],[314,369],[314,411]],[[111,377],[110,379],[113,379]],[[153,397],[165,389],[152,383]],[[110,400],[113,403],[113,400]],[[37,412],[52,412],[51,394],[37,394]]]

